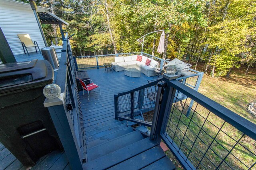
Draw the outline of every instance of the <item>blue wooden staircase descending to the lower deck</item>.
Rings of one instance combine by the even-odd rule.
[[[132,124],[111,119],[86,127],[88,160],[84,169],[174,170],[159,143],[131,127]]]

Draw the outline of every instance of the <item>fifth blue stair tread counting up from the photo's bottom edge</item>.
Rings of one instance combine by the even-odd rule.
[[[133,132],[134,130],[132,129],[132,127],[125,127],[124,129],[120,129],[118,131],[114,131],[108,135],[104,135],[102,137],[99,137],[97,139],[94,139],[92,141],[89,141],[86,143],[86,147],[87,149],[95,147],[97,145],[100,145],[102,143],[106,143],[108,141],[111,141],[112,139],[115,139],[117,137],[120,137],[122,135],[125,135],[127,133]]]

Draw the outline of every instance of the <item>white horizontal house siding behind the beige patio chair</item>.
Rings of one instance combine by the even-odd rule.
[[[45,47],[34,12],[29,4],[0,0],[0,27],[14,55],[24,54],[17,33],[28,33],[32,41],[37,41],[40,49]],[[34,47],[28,48],[28,52],[32,51],[36,51]]]

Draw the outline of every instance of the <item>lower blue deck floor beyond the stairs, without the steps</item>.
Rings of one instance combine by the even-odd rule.
[[[100,85],[101,96],[98,89],[88,93],[80,91],[80,102],[84,118],[85,129],[92,125],[114,119],[114,94],[126,92],[147,84],[147,80],[154,80],[157,77],[147,77],[141,74],[140,77],[128,77],[121,72],[104,72],[104,68],[87,70],[88,76]]]

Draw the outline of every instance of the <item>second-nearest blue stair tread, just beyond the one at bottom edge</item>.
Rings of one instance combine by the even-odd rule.
[[[121,162],[120,164],[117,164],[116,166],[112,166],[109,168],[109,170],[125,170],[125,169],[141,169],[145,166],[148,166],[157,160],[165,157],[166,154],[161,149],[161,147],[158,145],[152,149],[146,150],[145,152],[142,152],[141,154],[138,154],[124,162]]]

